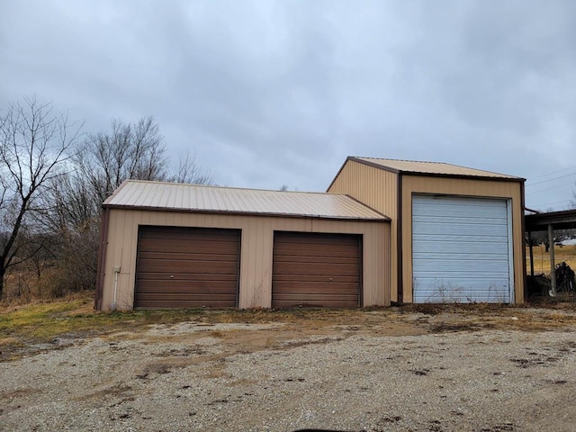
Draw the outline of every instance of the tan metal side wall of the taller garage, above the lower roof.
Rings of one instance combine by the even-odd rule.
[[[330,184],[329,193],[347,193],[375,211],[380,211],[391,219],[391,250],[385,259],[390,259],[391,300],[397,302],[398,293],[398,175],[374,166],[348,160]],[[388,266],[388,263],[386,263]]]

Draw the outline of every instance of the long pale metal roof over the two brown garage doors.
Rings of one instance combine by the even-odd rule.
[[[389,220],[345,194],[280,192],[127,180],[103,207],[344,220]]]

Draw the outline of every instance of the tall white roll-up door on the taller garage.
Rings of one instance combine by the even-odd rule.
[[[512,302],[510,214],[505,199],[414,195],[414,302]]]

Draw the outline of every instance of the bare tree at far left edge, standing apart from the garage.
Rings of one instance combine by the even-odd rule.
[[[42,247],[30,247],[23,233],[32,232],[34,219],[48,210],[40,197],[63,175],[81,127],[35,97],[11,104],[0,118],[0,298],[6,270]]]

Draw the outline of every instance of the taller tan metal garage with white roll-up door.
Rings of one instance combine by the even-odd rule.
[[[393,302],[524,302],[525,179],[348,157],[329,185],[388,215]]]

